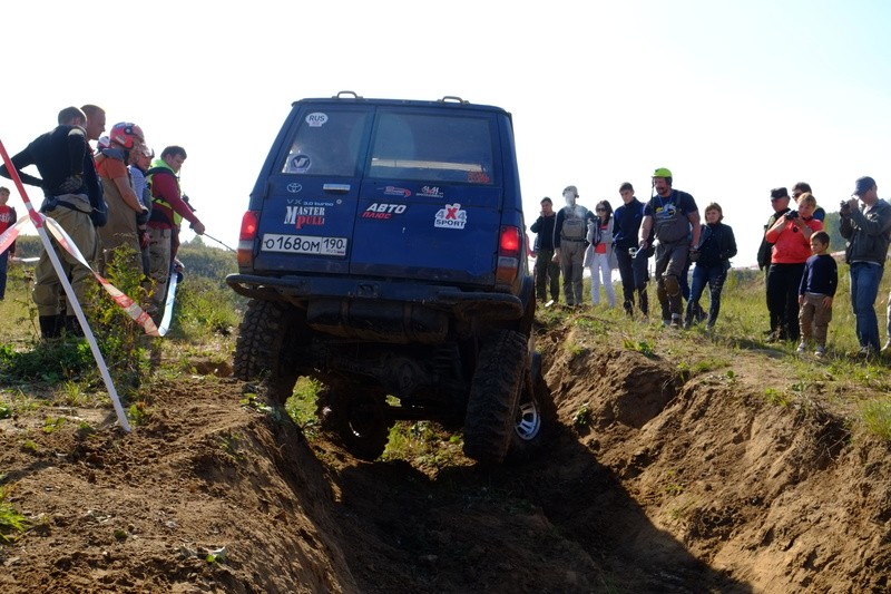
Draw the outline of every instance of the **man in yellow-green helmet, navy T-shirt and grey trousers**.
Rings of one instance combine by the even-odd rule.
[[[649,232],[656,231],[656,296],[662,305],[664,325],[681,328],[681,275],[687,266],[689,251],[699,245],[699,208],[686,192],[672,187],[672,172],[659,167],[653,172],[655,195],[644,206],[639,249],[649,247]]]

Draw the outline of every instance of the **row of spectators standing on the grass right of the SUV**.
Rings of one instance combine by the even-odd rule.
[[[615,211],[609,201],[589,211],[572,185],[564,189],[559,210],[549,197],[541,199],[541,212],[530,226],[536,234],[535,292],[540,303],[559,304],[562,286],[562,303],[580,306],[582,271],[588,269],[590,303],[601,303],[603,288],[606,306],[614,308],[613,271],[618,269],[625,313],[647,321],[652,270],[663,325],[689,329],[705,322],[707,330],[714,329],[731,259],[737,253],[733,228],[715,202],[701,216],[695,198],[674,187],[669,169],[655,169],[652,182],[652,196],[644,201],[635,196],[631,184],[621,184],[621,203]],[[824,357],[838,288],[838,265],[823,228],[825,211],[804,182],[795,184],[791,194],[786,187],[771,189],[770,199],[773,213],[757,253],[765,274],[766,340],[791,341],[799,353]],[[875,313],[891,242],[891,206],[879,198],[872,177],[856,179],[851,197],[841,202],[839,227],[846,243],[859,356],[891,354],[891,299],[883,345]],[[706,289],[709,301],[704,309]]]

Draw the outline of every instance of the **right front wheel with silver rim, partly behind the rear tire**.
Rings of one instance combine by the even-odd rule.
[[[536,352],[523,379],[506,461],[522,464],[531,460],[554,435],[556,425],[557,407],[541,376],[541,354]]]

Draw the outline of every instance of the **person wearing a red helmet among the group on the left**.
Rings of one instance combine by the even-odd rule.
[[[130,163],[130,153],[145,149],[143,129],[136,124],[121,121],[111,126],[108,146],[102,148],[100,145],[96,156],[96,168],[108,204],[108,222],[99,227],[101,274],[106,273],[115,257],[125,259],[128,267],[143,267],[138,226],[146,223],[148,210],[133,189],[127,165]]]

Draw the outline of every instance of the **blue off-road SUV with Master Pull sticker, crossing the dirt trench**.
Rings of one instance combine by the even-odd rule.
[[[511,116],[457,97],[293,104],[238,242],[251,298],[235,374],[280,401],[319,379],[323,427],[374,459],[400,419],[463,427],[500,462],[552,403],[530,347],[532,277]]]

